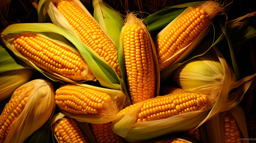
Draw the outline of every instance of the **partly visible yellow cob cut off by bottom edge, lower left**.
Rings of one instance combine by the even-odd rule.
[[[58,142],[89,142],[85,133],[72,118],[61,118],[53,125]]]

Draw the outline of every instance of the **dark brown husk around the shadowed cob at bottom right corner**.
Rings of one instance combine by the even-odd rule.
[[[238,105],[229,111],[221,112],[212,117],[211,120],[205,122],[205,127],[208,135],[208,142],[224,142],[224,116],[225,114],[230,114],[236,121],[240,132],[240,141],[243,143],[249,142],[248,140],[248,130],[246,125],[245,114],[243,113],[243,108]]]

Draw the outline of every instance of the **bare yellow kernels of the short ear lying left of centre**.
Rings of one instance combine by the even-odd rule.
[[[118,111],[110,95],[77,85],[64,85],[55,92],[58,108],[73,114],[97,115]]]

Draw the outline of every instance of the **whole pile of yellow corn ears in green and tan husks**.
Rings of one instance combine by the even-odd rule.
[[[102,0],[93,14],[79,0],[33,5],[38,23],[1,32],[0,142],[249,142],[240,102],[256,73],[240,76],[233,48],[255,38],[240,24],[255,13],[229,20],[217,1],[146,18]]]

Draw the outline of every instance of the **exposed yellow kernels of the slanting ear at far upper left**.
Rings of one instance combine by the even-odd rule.
[[[33,33],[21,33],[13,40],[16,49],[32,63],[50,73],[72,80],[87,80],[91,71],[79,53]]]

